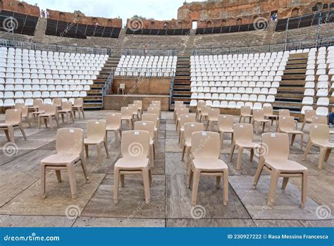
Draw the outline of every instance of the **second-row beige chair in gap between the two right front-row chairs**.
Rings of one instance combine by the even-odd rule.
[[[235,151],[235,147],[238,148],[237,152],[237,170],[241,168],[242,161],[242,152],[244,149],[249,149],[250,161],[253,161],[254,157],[254,149],[259,148],[259,144],[253,142],[254,133],[253,133],[253,125],[252,124],[235,124],[233,125],[233,144],[230,153],[230,161],[233,159],[233,154]]]

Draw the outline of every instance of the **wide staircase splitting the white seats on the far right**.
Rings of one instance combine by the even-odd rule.
[[[292,116],[299,117],[302,111],[307,54],[291,54],[287,61],[273,109],[289,109]]]

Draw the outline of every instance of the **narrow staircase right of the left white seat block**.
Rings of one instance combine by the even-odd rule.
[[[90,86],[90,90],[87,91],[87,97],[84,98],[85,110],[102,110],[103,108],[103,96],[102,87],[106,84],[111,70],[116,68],[120,56],[109,56],[109,59],[104,64],[104,67],[100,71],[97,79],[94,80],[94,84]]]

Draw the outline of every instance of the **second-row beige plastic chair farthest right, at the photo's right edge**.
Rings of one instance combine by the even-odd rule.
[[[309,125],[309,142],[305,149],[304,160],[307,159],[307,154],[313,145],[320,148],[318,168],[323,169],[324,162],[328,161],[330,152],[334,149],[334,142],[330,141],[328,125],[313,123]]]

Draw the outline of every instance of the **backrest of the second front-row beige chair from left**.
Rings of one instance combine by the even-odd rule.
[[[123,132],[120,152],[125,158],[147,158],[149,154],[149,132],[146,130]]]

